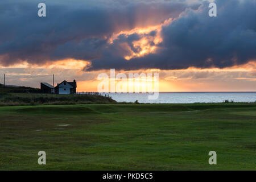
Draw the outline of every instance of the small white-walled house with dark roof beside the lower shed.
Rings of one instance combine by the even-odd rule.
[[[57,94],[73,94],[76,93],[76,80],[73,82],[63,81],[55,87]]]

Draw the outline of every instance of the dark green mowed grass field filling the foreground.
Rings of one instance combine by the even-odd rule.
[[[256,104],[0,107],[0,169],[255,170],[255,113]]]

